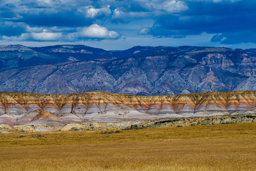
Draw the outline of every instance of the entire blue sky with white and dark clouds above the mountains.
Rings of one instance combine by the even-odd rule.
[[[0,0],[0,44],[256,48],[255,0]]]

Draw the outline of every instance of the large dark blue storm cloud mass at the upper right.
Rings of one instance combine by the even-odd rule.
[[[255,36],[252,36],[256,28],[255,1],[186,3],[188,10],[159,16],[153,27],[147,29],[147,34],[179,38],[203,32],[222,33],[215,35],[211,41],[222,44],[255,42]]]

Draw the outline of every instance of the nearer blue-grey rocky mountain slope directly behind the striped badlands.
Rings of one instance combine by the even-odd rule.
[[[0,91],[105,91],[130,95],[232,91],[254,75],[255,65],[247,59],[233,63],[226,55],[218,53],[208,54],[198,61],[189,55],[75,61],[1,71]]]

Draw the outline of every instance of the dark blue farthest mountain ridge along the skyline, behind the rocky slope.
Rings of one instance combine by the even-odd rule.
[[[127,50],[106,51],[104,49],[93,48],[85,45],[55,45],[45,47],[26,47],[23,45],[0,45],[0,69],[37,66],[45,64],[57,64],[75,60],[104,60],[152,54],[187,53],[204,49],[214,48],[192,46],[134,46]],[[224,48],[224,50],[231,49]],[[254,52],[253,49],[251,51]]]

